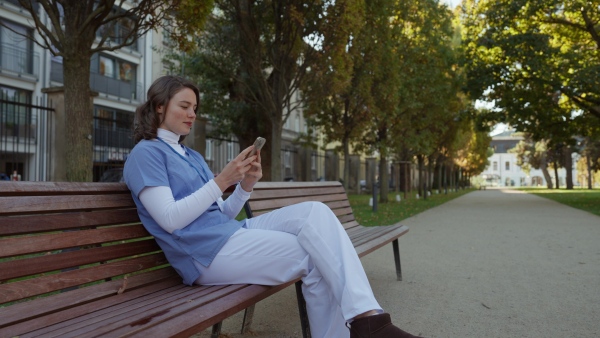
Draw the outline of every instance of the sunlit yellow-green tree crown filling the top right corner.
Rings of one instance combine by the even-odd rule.
[[[557,123],[580,128],[600,117],[593,2],[483,0],[463,8],[467,88],[494,104],[488,120],[548,139]]]

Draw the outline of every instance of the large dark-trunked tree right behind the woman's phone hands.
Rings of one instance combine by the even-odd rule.
[[[204,33],[212,42],[198,40],[198,48],[187,56],[198,67],[186,68],[186,75],[198,79],[203,95],[204,87],[213,91],[212,101],[200,106],[201,113],[211,121],[220,120],[222,134],[230,128],[242,147],[252,144],[259,132],[267,138],[262,152],[265,179],[282,179],[283,125],[293,110],[301,108],[299,88],[306,81],[314,45],[321,38],[323,14],[331,4],[217,0]],[[224,95],[219,99],[217,93]]]

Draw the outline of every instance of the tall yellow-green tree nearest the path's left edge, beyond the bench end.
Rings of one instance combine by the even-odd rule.
[[[399,60],[397,69],[401,75],[394,87],[398,91],[395,109],[379,110],[383,125],[378,127],[378,131],[383,126],[389,130],[392,142],[380,137],[376,144],[380,153],[389,148],[394,153],[413,154],[418,160],[419,173],[430,173],[438,156],[438,141],[460,109],[452,103],[456,102],[459,89],[456,51],[452,45],[452,13],[436,1],[408,1],[398,5],[394,23],[399,31],[394,37],[394,55]],[[387,110],[395,114],[386,118]],[[381,165],[380,171],[381,176],[387,176],[385,166]],[[420,175],[420,193],[424,181]],[[384,189],[381,193],[382,198],[384,193],[387,196]]]

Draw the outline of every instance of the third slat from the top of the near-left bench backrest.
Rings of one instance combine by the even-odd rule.
[[[2,214],[1,210],[0,214]],[[135,208],[102,210],[100,212],[0,216],[0,236],[139,222],[140,218]]]

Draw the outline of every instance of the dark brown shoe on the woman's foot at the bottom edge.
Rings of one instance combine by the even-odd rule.
[[[356,319],[349,327],[350,338],[419,338],[395,327],[388,313]]]

